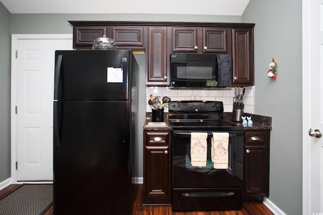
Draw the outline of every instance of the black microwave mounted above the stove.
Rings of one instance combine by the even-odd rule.
[[[171,88],[225,88],[232,86],[229,54],[172,53]]]

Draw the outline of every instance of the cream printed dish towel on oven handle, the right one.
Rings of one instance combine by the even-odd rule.
[[[229,133],[213,133],[213,167],[214,169],[228,169],[229,163]]]

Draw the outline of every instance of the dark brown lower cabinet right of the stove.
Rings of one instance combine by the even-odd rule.
[[[262,201],[269,194],[270,130],[244,132],[243,201]]]

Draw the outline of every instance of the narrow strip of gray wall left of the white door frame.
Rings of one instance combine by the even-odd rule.
[[[0,2],[0,182],[10,177],[10,13]]]

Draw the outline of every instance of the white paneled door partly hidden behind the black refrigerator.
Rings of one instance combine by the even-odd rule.
[[[72,39],[17,41],[17,181],[52,180],[55,50]]]

